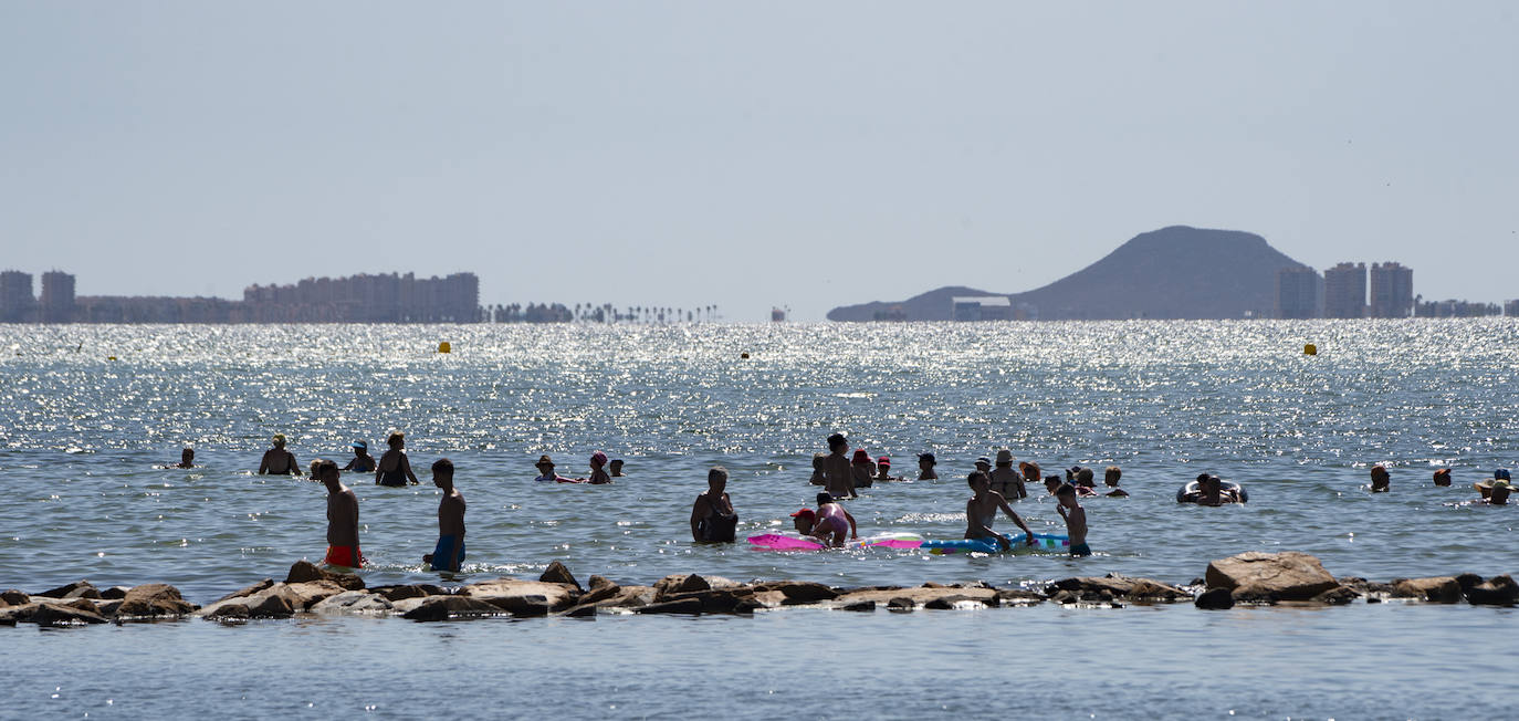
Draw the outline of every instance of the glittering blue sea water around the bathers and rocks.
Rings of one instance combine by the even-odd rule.
[[[453,354],[434,349],[448,340]],[[1320,355],[1302,355],[1317,343]],[[741,354],[749,358],[743,360]],[[115,357],[117,360],[108,360]],[[208,603],[321,559],[325,490],[258,477],[269,436],[302,468],[404,430],[422,486],[345,475],[371,584],[437,581],[425,472],[457,466],[468,578],[564,560],[829,584],[1171,583],[1249,549],[1373,580],[1519,571],[1519,508],[1464,504],[1519,466],[1519,322],[1129,322],[594,326],[0,326],[0,587],[166,581]],[[732,474],[740,534],[810,505],[811,455],[846,433],[911,475],[851,501],[861,534],[958,537],[978,455],[1047,472],[1120,464],[1086,501],[1097,556],[936,557],[694,546],[706,469]],[[166,471],[193,445],[193,471]],[[535,484],[539,454],[585,475]],[[1385,463],[1393,492],[1366,492]],[[1431,484],[1455,469],[1455,487]],[[1177,505],[1198,472],[1244,507]],[[1101,475],[1101,474],[1098,474]],[[1015,504],[1060,531],[1047,498]],[[1009,528],[1006,519],[998,521]],[[1511,715],[1514,610],[1059,609],[412,624],[191,621],[0,628],[0,716],[1473,718]],[[1504,671],[1507,672],[1507,671]]]

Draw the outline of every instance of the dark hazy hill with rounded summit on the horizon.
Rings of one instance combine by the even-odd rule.
[[[1302,267],[1265,238],[1188,226],[1135,235],[1106,258],[1024,293],[966,287],[828,311],[829,320],[949,320],[955,296],[1006,294],[1041,320],[1271,317],[1276,273]]]

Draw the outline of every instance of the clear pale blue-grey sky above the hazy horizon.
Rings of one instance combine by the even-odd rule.
[[[0,267],[820,320],[1191,225],[1499,302],[1516,8],[0,0]]]

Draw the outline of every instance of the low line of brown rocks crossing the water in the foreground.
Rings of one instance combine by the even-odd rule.
[[[99,589],[70,583],[41,593],[0,592],[0,625],[85,625],[103,622],[204,618],[223,624],[298,615],[377,615],[413,621],[488,616],[595,616],[598,613],[697,615],[753,613],[782,607],[849,612],[966,610],[1031,606],[1123,607],[1192,601],[1202,609],[1235,604],[1334,606],[1356,600],[1381,603],[1472,603],[1514,606],[1519,584],[1508,575],[1489,580],[1475,574],[1432,578],[1335,578],[1318,559],[1302,553],[1244,553],[1208,565],[1206,577],[1173,586],[1153,578],[1062,578],[1039,589],[989,583],[835,587],[813,581],[734,581],[717,575],[674,574],[650,586],[624,584],[592,575],[582,586],[554,562],[538,580],[489,578],[460,586],[431,583],[366,586],[352,574],[334,574],[310,562],[290,566],[283,581],[264,578],[205,607],[185,601],[173,586],[149,583]]]

